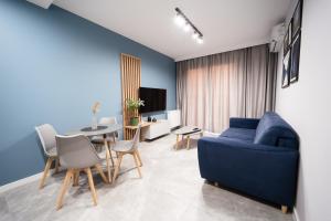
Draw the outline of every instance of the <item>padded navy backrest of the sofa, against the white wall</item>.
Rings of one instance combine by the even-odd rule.
[[[298,148],[297,133],[278,114],[267,112],[259,120],[254,144]]]

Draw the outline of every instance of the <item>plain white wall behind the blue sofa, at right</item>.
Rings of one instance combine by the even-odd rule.
[[[276,112],[300,136],[297,218],[327,221],[331,220],[331,0],[303,3],[299,81],[280,88],[279,53]]]

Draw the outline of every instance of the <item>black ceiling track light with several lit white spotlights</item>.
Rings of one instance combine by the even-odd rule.
[[[199,44],[203,43],[203,34],[199,29],[188,19],[188,17],[179,9],[175,8],[177,12],[174,21],[179,27],[183,27],[184,32],[193,31],[192,39],[196,40]]]

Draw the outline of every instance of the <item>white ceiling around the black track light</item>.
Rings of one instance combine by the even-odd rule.
[[[55,0],[53,3],[175,61],[267,43],[292,0]],[[203,33],[174,22],[179,7]]]

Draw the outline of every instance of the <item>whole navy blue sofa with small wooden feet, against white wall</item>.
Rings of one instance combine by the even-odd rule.
[[[276,113],[231,118],[220,137],[197,141],[201,177],[284,207],[296,199],[299,140]]]

